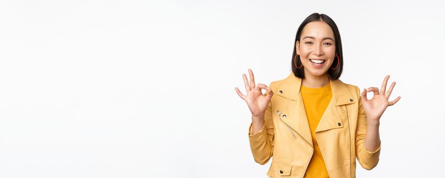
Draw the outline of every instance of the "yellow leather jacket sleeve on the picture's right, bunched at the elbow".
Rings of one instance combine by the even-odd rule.
[[[380,146],[381,142],[374,152],[369,152],[365,149],[365,136],[366,136],[366,128],[367,128],[367,117],[365,108],[361,103],[360,89],[356,88],[358,92],[358,118],[357,118],[357,129],[355,131],[355,155],[357,157],[358,162],[361,167],[371,170],[379,161],[380,156]]]

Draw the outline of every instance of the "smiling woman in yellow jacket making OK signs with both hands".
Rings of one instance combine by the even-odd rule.
[[[390,76],[377,87],[360,89],[343,83],[343,53],[336,23],[314,13],[299,26],[292,55],[292,72],[269,86],[250,82],[247,95],[235,91],[252,112],[248,137],[257,163],[272,157],[269,177],[355,177],[355,158],[365,169],[379,161],[380,117],[395,82]],[[261,90],[267,92],[263,95]],[[374,97],[367,99],[367,92]],[[274,95],[275,94],[275,95]]]

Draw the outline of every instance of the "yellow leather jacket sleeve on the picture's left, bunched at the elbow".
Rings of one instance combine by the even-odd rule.
[[[269,84],[270,90],[272,90],[272,83]],[[267,95],[264,94],[264,95]],[[266,111],[264,113],[264,125],[261,131],[253,134],[252,123],[249,126],[249,143],[252,150],[252,155],[254,156],[255,162],[264,165],[266,164],[270,157],[272,157],[273,152],[273,122],[272,122],[272,99],[267,105]]]

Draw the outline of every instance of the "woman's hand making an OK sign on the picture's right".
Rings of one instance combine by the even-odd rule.
[[[390,78],[389,75],[383,79],[382,87],[380,90],[380,93],[378,91],[377,87],[369,87],[368,89],[364,89],[361,93],[361,102],[363,103],[363,107],[365,108],[366,116],[368,118],[368,122],[371,123],[379,123],[380,117],[382,116],[383,112],[385,111],[386,107],[392,106],[397,103],[397,101],[400,100],[400,96],[397,97],[393,101],[388,101],[390,98],[391,92],[393,92],[393,88],[396,85],[396,82],[393,82],[386,91],[386,83],[388,82],[388,79]],[[372,97],[371,100],[368,100],[366,97],[366,94],[368,92],[374,92],[374,97]]]

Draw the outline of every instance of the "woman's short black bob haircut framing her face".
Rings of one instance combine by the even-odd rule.
[[[303,22],[301,22],[300,26],[298,27],[298,31],[297,31],[297,35],[295,37],[295,42],[294,42],[294,53],[292,55],[292,72],[294,73],[294,75],[298,78],[304,78],[304,66],[302,66],[301,64],[301,60],[300,60],[300,56],[297,55],[297,49],[295,44],[297,43],[297,41],[300,41],[301,38],[301,31],[303,31],[303,28],[306,24],[308,24],[309,22],[313,22],[313,21],[324,21],[326,22],[330,28],[332,29],[332,32],[334,34],[334,38],[335,38],[335,43],[336,43],[336,54],[339,56],[334,57],[334,61],[332,63],[332,66],[329,67],[329,69],[327,70],[327,74],[329,76],[329,80],[337,80],[340,78],[340,76],[342,75],[342,71],[343,71],[343,51],[342,51],[342,40],[340,38],[340,32],[339,32],[339,28],[337,28],[337,24],[327,15],[325,14],[319,14],[319,13],[313,13],[310,16],[308,16],[306,19],[304,19]],[[296,56],[296,65],[297,66],[301,66],[300,69],[297,69],[295,67],[294,64],[294,57]],[[337,60],[340,60],[340,63],[335,60],[335,58],[337,58]],[[337,64],[339,63],[339,66],[337,67],[336,70],[332,70],[332,68],[335,68],[335,66],[337,66]]]

